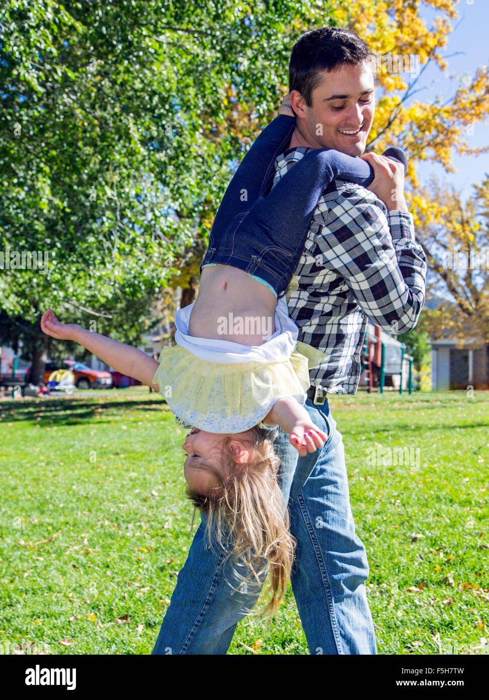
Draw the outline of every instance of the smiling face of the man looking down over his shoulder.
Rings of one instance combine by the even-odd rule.
[[[299,116],[299,132],[314,148],[362,155],[375,113],[374,73],[370,62],[341,66],[331,73],[323,71],[322,82],[312,92],[311,107],[302,98],[297,99],[300,97],[297,90],[292,90],[290,97]]]

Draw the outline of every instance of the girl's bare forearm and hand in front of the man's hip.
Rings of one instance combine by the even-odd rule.
[[[284,433],[289,434],[290,444],[299,451],[301,457],[316,451],[327,440],[327,433],[314,425],[304,406],[291,396],[279,398],[263,422],[281,426]]]

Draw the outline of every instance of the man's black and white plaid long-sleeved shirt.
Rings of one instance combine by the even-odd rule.
[[[307,151],[298,146],[276,158],[272,187]],[[360,185],[332,181],[314,212],[295,278],[287,298],[298,339],[327,356],[310,370],[311,384],[354,394],[368,319],[406,333],[425,302],[426,256],[414,237],[413,215],[388,211]]]

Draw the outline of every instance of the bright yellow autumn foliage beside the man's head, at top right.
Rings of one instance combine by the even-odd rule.
[[[406,200],[420,183],[416,165],[436,160],[453,172],[453,153],[481,155],[485,148],[469,148],[467,136],[476,123],[485,123],[489,109],[489,69],[481,66],[472,78],[462,78],[451,99],[442,102],[412,101],[429,64],[446,72],[448,57],[440,50],[453,31],[450,20],[458,18],[456,0],[423,0],[439,12],[432,27],[420,18],[421,0],[348,0],[334,8],[333,18],[367,41],[376,54],[378,87],[374,126],[367,151],[382,152],[389,145],[401,146],[409,156]]]

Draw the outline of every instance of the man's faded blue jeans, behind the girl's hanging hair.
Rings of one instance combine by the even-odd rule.
[[[328,433],[321,449],[298,457],[278,430],[280,483],[297,540],[291,583],[311,654],[376,654],[365,581],[369,565],[355,533],[341,433],[324,406],[306,409]],[[226,654],[236,624],[253,608],[259,591],[243,591],[225,552],[204,540],[206,517],[194,535],[187,561],[152,654]],[[264,581],[263,581],[264,582]]]

